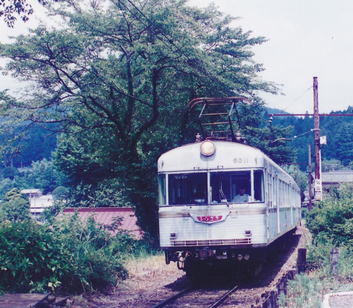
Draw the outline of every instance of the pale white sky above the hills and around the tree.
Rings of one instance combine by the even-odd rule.
[[[214,2],[219,10],[239,17],[234,27],[252,31],[268,41],[252,50],[262,63],[262,80],[274,82],[285,95],[258,93],[271,108],[289,113],[313,113],[313,77],[317,77],[319,112],[329,113],[353,106],[353,2],[348,0],[190,0],[190,6]],[[43,9],[33,5],[30,21],[17,21],[14,29],[0,24],[0,41],[25,32],[43,18]],[[5,30],[5,31],[3,31]],[[0,62],[3,64],[3,62]],[[0,89],[16,86],[0,78]],[[18,84],[17,84],[18,86]]]

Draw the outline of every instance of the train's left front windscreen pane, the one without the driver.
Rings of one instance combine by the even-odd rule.
[[[207,203],[207,173],[169,174],[169,205]]]

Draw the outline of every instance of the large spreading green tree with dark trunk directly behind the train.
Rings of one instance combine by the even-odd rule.
[[[251,47],[266,40],[232,27],[234,18],[214,5],[69,1],[54,13],[65,27],[41,26],[0,45],[10,59],[4,72],[29,83],[21,100],[0,93],[7,120],[1,125],[20,119],[62,132],[56,164],[73,187],[118,179],[143,227],[155,226],[156,157],[195,135],[188,122],[195,115],[186,112],[195,97],[254,101],[240,108],[239,125],[262,144],[262,131],[251,130],[263,111],[256,92],[276,87],[258,78],[262,66]],[[290,159],[288,150],[283,154],[278,161]]]

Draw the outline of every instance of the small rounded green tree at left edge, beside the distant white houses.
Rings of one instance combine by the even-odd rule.
[[[4,197],[5,202],[0,203],[0,209],[5,219],[10,221],[29,219],[29,201],[17,188],[12,188]]]

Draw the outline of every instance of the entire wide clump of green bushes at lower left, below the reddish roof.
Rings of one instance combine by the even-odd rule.
[[[126,277],[121,260],[137,245],[127,234],[113,238],[78,215],[52,226],[34,220],[0,223],[0,292],[101,290]]]

